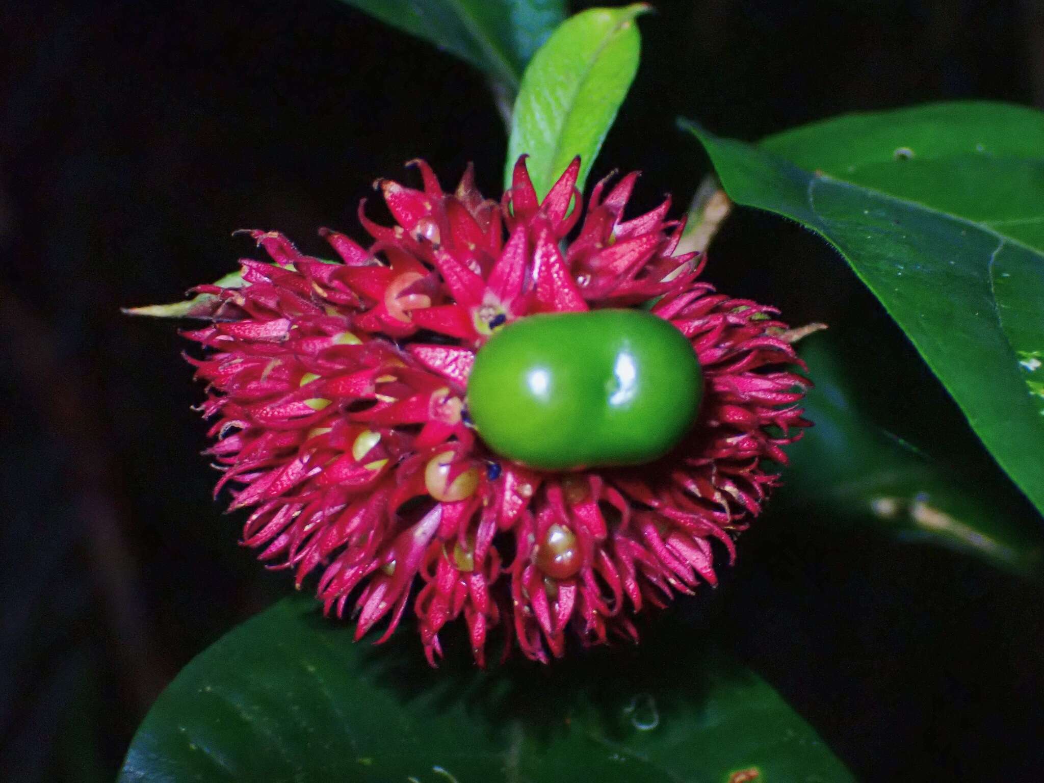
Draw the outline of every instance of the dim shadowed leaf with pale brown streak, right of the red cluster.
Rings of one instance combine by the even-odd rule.
[[[1039,527],[1026,524],[1025,500],[989,462],[986,472],[973,459],[953,464],[954,455],[940,458],[932,447],[919,448],[879,426],[856,392],[868,379],[852,372],[859,363],[853,354],[859,355],[829,333],[802,341],[801,356],[815,379],[802,405],[815,426],[789,450],[786,489],[777,501],[832,527],[865,524],[1020,575],[1039,573],[1044,542]]]

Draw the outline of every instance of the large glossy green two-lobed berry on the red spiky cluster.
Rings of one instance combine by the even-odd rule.
[[[539,470],[640,465],[692,426],[703,373],[677,328],[643,310],[530,315],[479,350],[468,410],[485,444]]]

